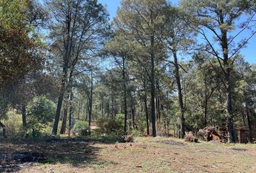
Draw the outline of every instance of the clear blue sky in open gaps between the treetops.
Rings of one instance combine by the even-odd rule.
[[[179,0],[172,0],[171,2],[177,4],[178,1]],[[98,2],[107,6],[110,19],[116,16],[116,10],[121,4],[121,0],[98,0]],[[247,47],[242,49],[241,54],[249,63],[256,63],[256,35],[249,40]]]

